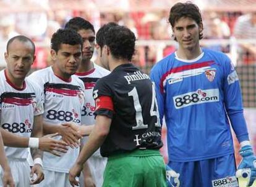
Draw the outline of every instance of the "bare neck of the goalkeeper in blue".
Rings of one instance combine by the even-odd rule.
[[[193,49],[179,48],[176,54],[177,54],[177,57],[181,59],[192,60],[197,58],[200,54],[202,54],[202,49],[200,46],[194,47]]]

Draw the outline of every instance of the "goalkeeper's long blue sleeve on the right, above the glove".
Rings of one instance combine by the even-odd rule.
[[[231,125],[239,142],[249,140],[247,125],[244,119],[242,94],[239,79],[233,63],[227,57],[224,64],[224,105]]]

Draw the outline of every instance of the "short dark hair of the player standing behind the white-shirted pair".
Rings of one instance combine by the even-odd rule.
[[[79,30],[92,30],[95,33],[92,23],[88,22],[82,17],[74,17],[66,23],[65,28],[79,31]]]

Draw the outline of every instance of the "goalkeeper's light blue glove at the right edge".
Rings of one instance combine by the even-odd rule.
[[[252,186],[256,179],[256,157],[252,151],[252,146],[245,145],[243,146],[239,153],[242,156],[242,161],[239,164],[237,170],[249,170],[248,183],[247,186]]]

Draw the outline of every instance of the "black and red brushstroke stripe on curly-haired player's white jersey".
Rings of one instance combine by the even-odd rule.
[[[81,88],[79,86],[75,86],[72,84],[55,84],[46,82],[45,84],[45,93],[46,92],[54,92],[60,95],[67,95],[67,96],[77,96],[81,92]]]

